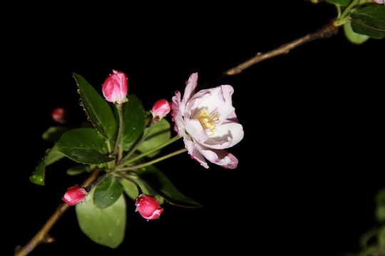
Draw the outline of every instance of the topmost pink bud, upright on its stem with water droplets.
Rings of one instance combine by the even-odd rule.
[[[113,73],[104,80],[102,91],[109,102],[119,105],[127,102],[128,99],[125,96],[128,92],[128,82],[125,73],[113,70]]]

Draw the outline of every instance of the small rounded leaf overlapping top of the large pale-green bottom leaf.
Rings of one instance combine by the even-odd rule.
[[[107,208],[115,203],[123,193],[123,186],[115,176],[108,176],[96,186],[93,193],[93,205],[98,208]]]

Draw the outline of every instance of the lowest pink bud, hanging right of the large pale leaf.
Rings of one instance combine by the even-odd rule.
[[[163,208],[160,207],[155,196],[148,196],[145,193],[135,198],[135,206],[140,215],[146,220],[155,220],[163,213]]]

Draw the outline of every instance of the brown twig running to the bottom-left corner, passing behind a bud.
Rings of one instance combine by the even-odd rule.
[[[90,176],[88,176],[88,178],[86,178],[86,180],[81,184],[81,186],[82,187],[90,186],[91,183],[93,183],[93,181],[95,181],[98,174],[99,174],[99,169],[96,169],[95,171],[93,171],[91,173]],[[53,215],[51,215],[51,217],[47,220],[47,222],[43,225],[43,227],[41,227],[39,232],[36,233],[34,238],[32,238],[26,245],[24,245],[19,250],[17,250],[15,252],[14,256],[28,255],[29,252],[32,252],[37,245],[41,244],[41,242],[47,241],[46,238],[49,238],[49,235],[48,235],[49,230],[51,230],[53,225],[55,225],[55,223],[58,221],[58,219],[61,217],[61,215],[63,215],[63,213],[65,213],[66,210],[68,210],[68,208],[69,208],[68,204],[61,203],[58,206],[58,208],[56,208]]]

